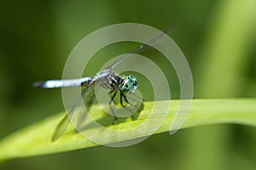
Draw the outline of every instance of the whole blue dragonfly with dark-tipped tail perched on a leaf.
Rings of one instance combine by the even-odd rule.
[[[114,114],[113,108],[111,106],[113,99],[117,96],[116,94],[119,93],[119,103],[122,107],[126,108],[124,101],[127,105],[131,105],[133,107],[137,107],[137,105],[132,105],[129,100],[127,99],[127,94],[134,94],[136,89],[138,88],[137,78],[133,75],[128,75],[121,77],[113,71],[113,68],[119,63],[123,62],[127,59],[131,54],[139,54],[142,53],[144,50],[150,48],[150,44],[153,44],[160,37],[163,37],[166,33],[172,30],[173,27],[169,27],[166,30],[160,32],[160,34],[153,37],[147,43],[135,48],[130,53],[125,54],[125,56],[121,57],[117,61],[110,65],[106,70],[99,71],[95,77],[82,77],[78,79],[67,79],[67,80],[47,80],[43,82],[35,82],[33,86],[35,88],[67,88],[67,87],[85,87],[77,102],[73,105],[73,107],[67,111],[66,116],[64,116],[61,122],[55,128],[55,133],[52,136],[52,142],[59,139],[61,135],[66,131],[67,125],[70,122],[71,117],[73,116],[74,111],[78,108],[79,104],[82,100],[84,100],[84,105],[86,107],[86,112],[90,111],[90,107],[94,102],[95,95],[96,95],[96,88],[95,87],[102,87],[109,89],[109,107],[110,111],[113,114],[113,123],[117,120],[117,116]],[[139,97],[139,96],[137,96]],[[129,109],[127,109],[130,111]],[[131,111],[131,117],[133,117],[133,112]]]

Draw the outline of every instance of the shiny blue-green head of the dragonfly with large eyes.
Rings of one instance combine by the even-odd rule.
[[[137,89],[138,83],[136,77],[129,75],[124,78],[124,82],[122,83],[122,90],[128,93],[134,93]]]

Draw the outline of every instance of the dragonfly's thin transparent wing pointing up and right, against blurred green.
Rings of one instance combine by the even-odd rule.
[[[176,28],[176,26],[167,27],[165,30],[163,30],[162,32],[160,32],[159,34],[154,36],[152,39],[150,39],[147,43],[144,43],[143,45],[139,46],[138,48],[133,49],[129,54],[126,54],[124,57],[117,60],[115,63],[113,63],[113,65],[110,65],[108,67],[108,69],[113,69],[113,67],[115,67],[116,65],[119,65],[120,62],[122,62],[123,60],[128,58],[131,54],[140,54],[143,51],[147,50],[148,48],[150,48],[151,44],[153,44],[154,42],[157,42],[161,37],[163,37],[165,34],[168,34],[170,31],[172,31],[175,28]]]

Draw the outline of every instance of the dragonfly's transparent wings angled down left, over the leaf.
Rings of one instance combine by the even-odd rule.
[[[56,139],[59,139],[61,135],[66,131],[70,119],[74,116],[74,114],[79,114],[79,112],[76,112],[76,110],[78,110],[78,108],[83,108],[83,104],[86,107],[86,110],[83,109],[83,112],[80,113],[78,116],[80,122],[84,120],[84,117],[87,115],[88,111],[90,111],[90,106],[93,104],[95,98],[94,82],[95,81],[91,81],[88,86],[84,88],[75,105],[73,105],[73,107],[67,112],[67,115],[64,116],[61,122],[57,125],[57,127],[55,128],[55,133],[52,136],[53,142]]]

